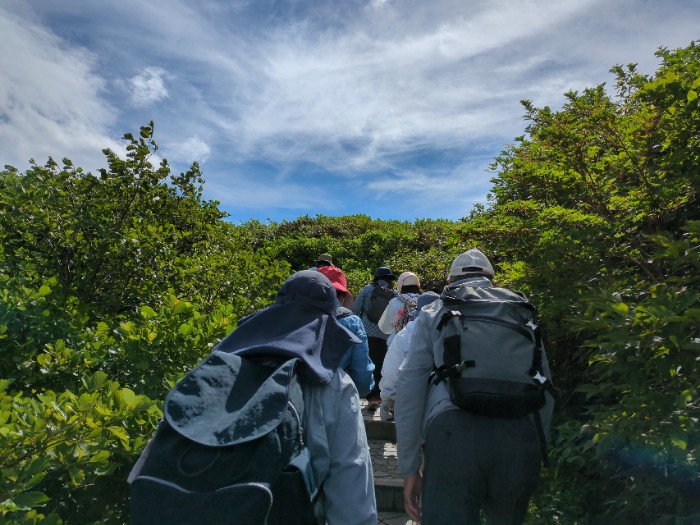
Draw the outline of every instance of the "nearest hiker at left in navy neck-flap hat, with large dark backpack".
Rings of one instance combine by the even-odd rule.
[[[338,306],[325,275],[293,274],[168,393],[128,479],[132,523],[377,524],[360,398],[338,367],[360,340]]]

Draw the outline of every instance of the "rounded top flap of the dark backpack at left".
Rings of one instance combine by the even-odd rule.
[[[285,415],[297,362],[290,359],[270,374],[248,359],[214,351],[168,393],[164,417],[179,434],[212,447],[264,436]]]

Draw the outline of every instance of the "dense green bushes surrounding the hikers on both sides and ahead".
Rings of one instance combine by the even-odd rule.
[[[439,291],[477,246],[538,305],[561,391],[531,521],[700,522],[700,48],[647,77],[524,101],[488,207],[458,222],[299,217],[233,225],[153,124],[122,159],[0,172],[0,523],[126,523],[126,475],[161,400],[283,280],[333,254]]]

